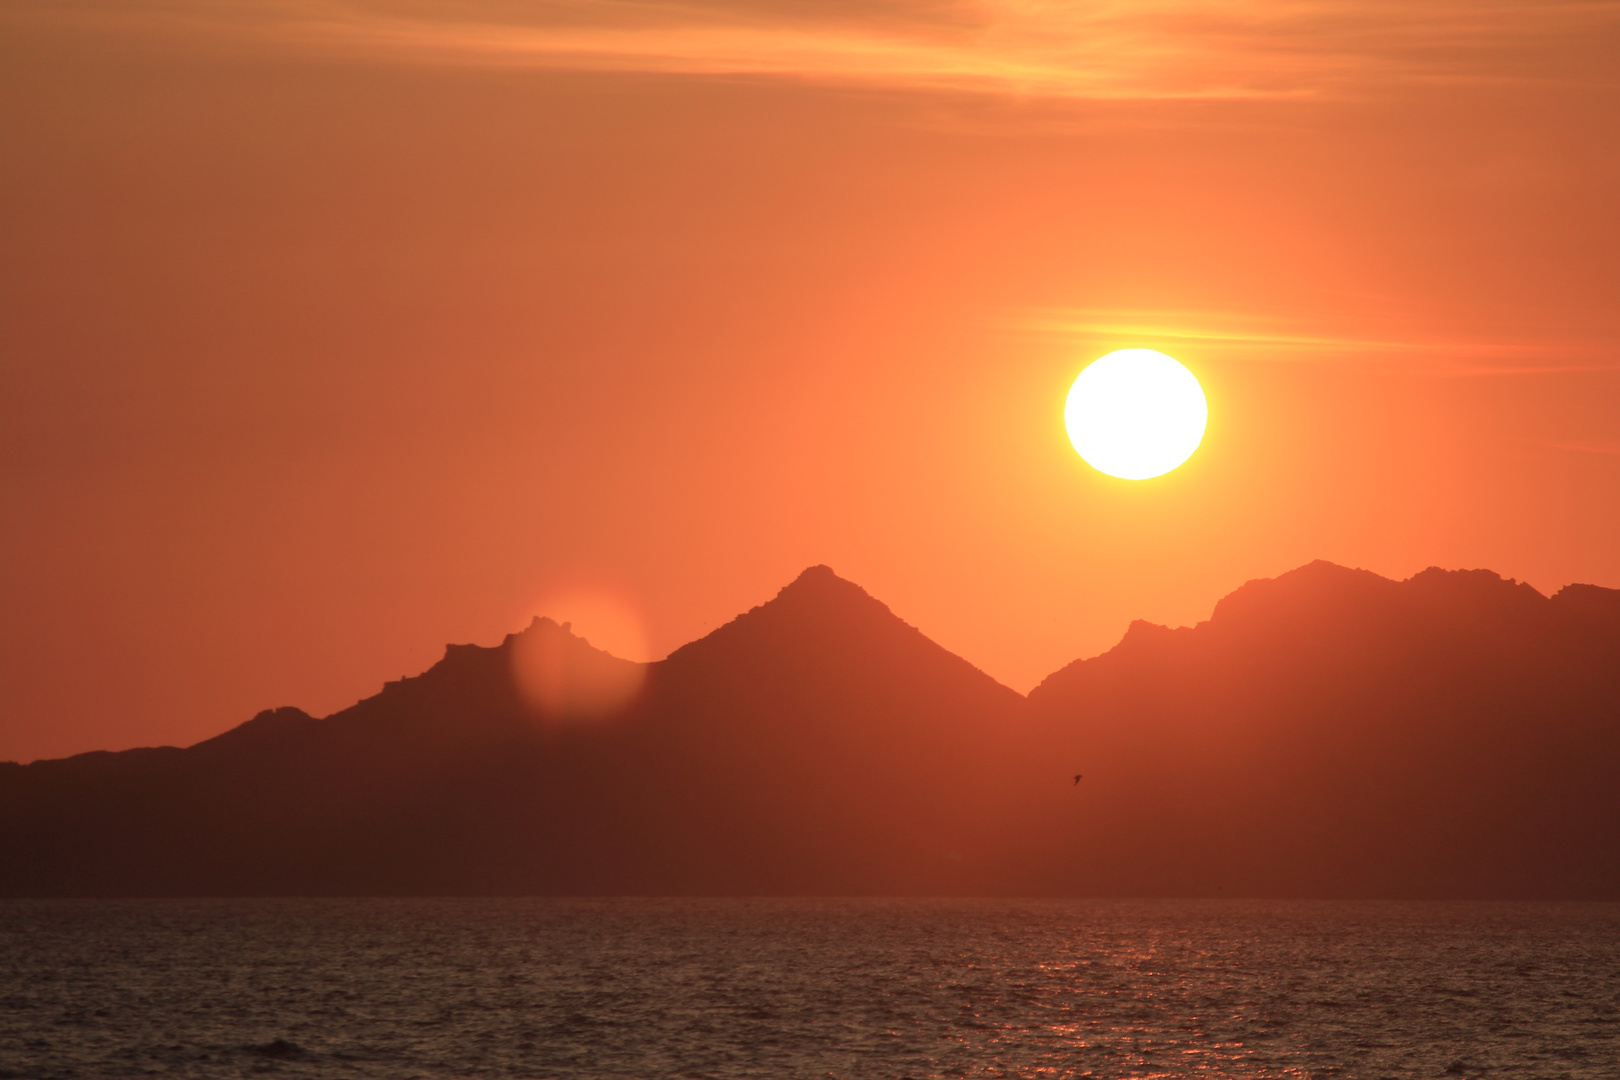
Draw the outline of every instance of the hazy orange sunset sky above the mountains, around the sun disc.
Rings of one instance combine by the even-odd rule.
[[[816,562],[1019,690],[1317,557],[1620,586],[1617,55],[1617,3],[13,2],[0,759],[533,614],[656,657]],[[1157,481],[1063,431],[1121,347],[1209,395]]]

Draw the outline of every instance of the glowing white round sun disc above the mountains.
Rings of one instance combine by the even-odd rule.
[[[1063,421],[1094,470],[1149,479],[1192,457],[1209,405],[1197,377],[1170,356],[1121,348],[1085,366],[1069,387]]]

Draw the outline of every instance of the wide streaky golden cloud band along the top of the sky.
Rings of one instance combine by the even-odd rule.
[[[147,0],[34,10],[104,28],[415,63],[1081,99],[1314,97],[1380,79],[1518,78],[1521,65],[1498,53],[1620,26],[1615,0],[807,0],[770,8],[666,0]]]

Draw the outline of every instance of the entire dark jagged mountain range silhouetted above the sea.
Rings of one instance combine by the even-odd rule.
[[[6,763],[0,894],[1620,899],[1617,771],[1620,589],[1315,562],[1025,698],[812,567],[654,664],[536,619]]]

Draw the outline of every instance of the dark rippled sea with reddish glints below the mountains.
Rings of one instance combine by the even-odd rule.
[[[0,1077],[1620,1077],[1620,905],[0,902]]]

